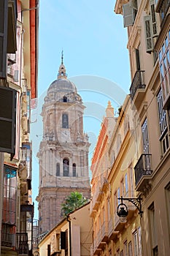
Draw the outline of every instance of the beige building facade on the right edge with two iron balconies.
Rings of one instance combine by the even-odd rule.
[[[142,253],[169,255],[169,0],[116,1],[128,29]]]

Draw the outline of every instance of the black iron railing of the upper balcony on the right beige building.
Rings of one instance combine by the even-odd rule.
[[[144,84],[144,70],[137,70],[131,83],[131,99],[134,99],[137,89],[145,89],[145,87],[146,85]]]

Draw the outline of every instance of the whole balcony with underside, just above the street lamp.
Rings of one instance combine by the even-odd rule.
[[[136,191],[141,191],[152,176],[151,154],[142,154],[134,167]]]

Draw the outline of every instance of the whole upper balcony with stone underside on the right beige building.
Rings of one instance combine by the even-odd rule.
[[[136,108],[142,103],[146,85],[144,84],[144,71],[137,70],[131,83],[130,94]]]

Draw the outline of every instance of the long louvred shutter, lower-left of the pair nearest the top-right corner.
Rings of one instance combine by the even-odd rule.
[[[145,33],[146,51],[147,53],[150,53],[153,49],[150,15],[144,16],[144,33]]]

